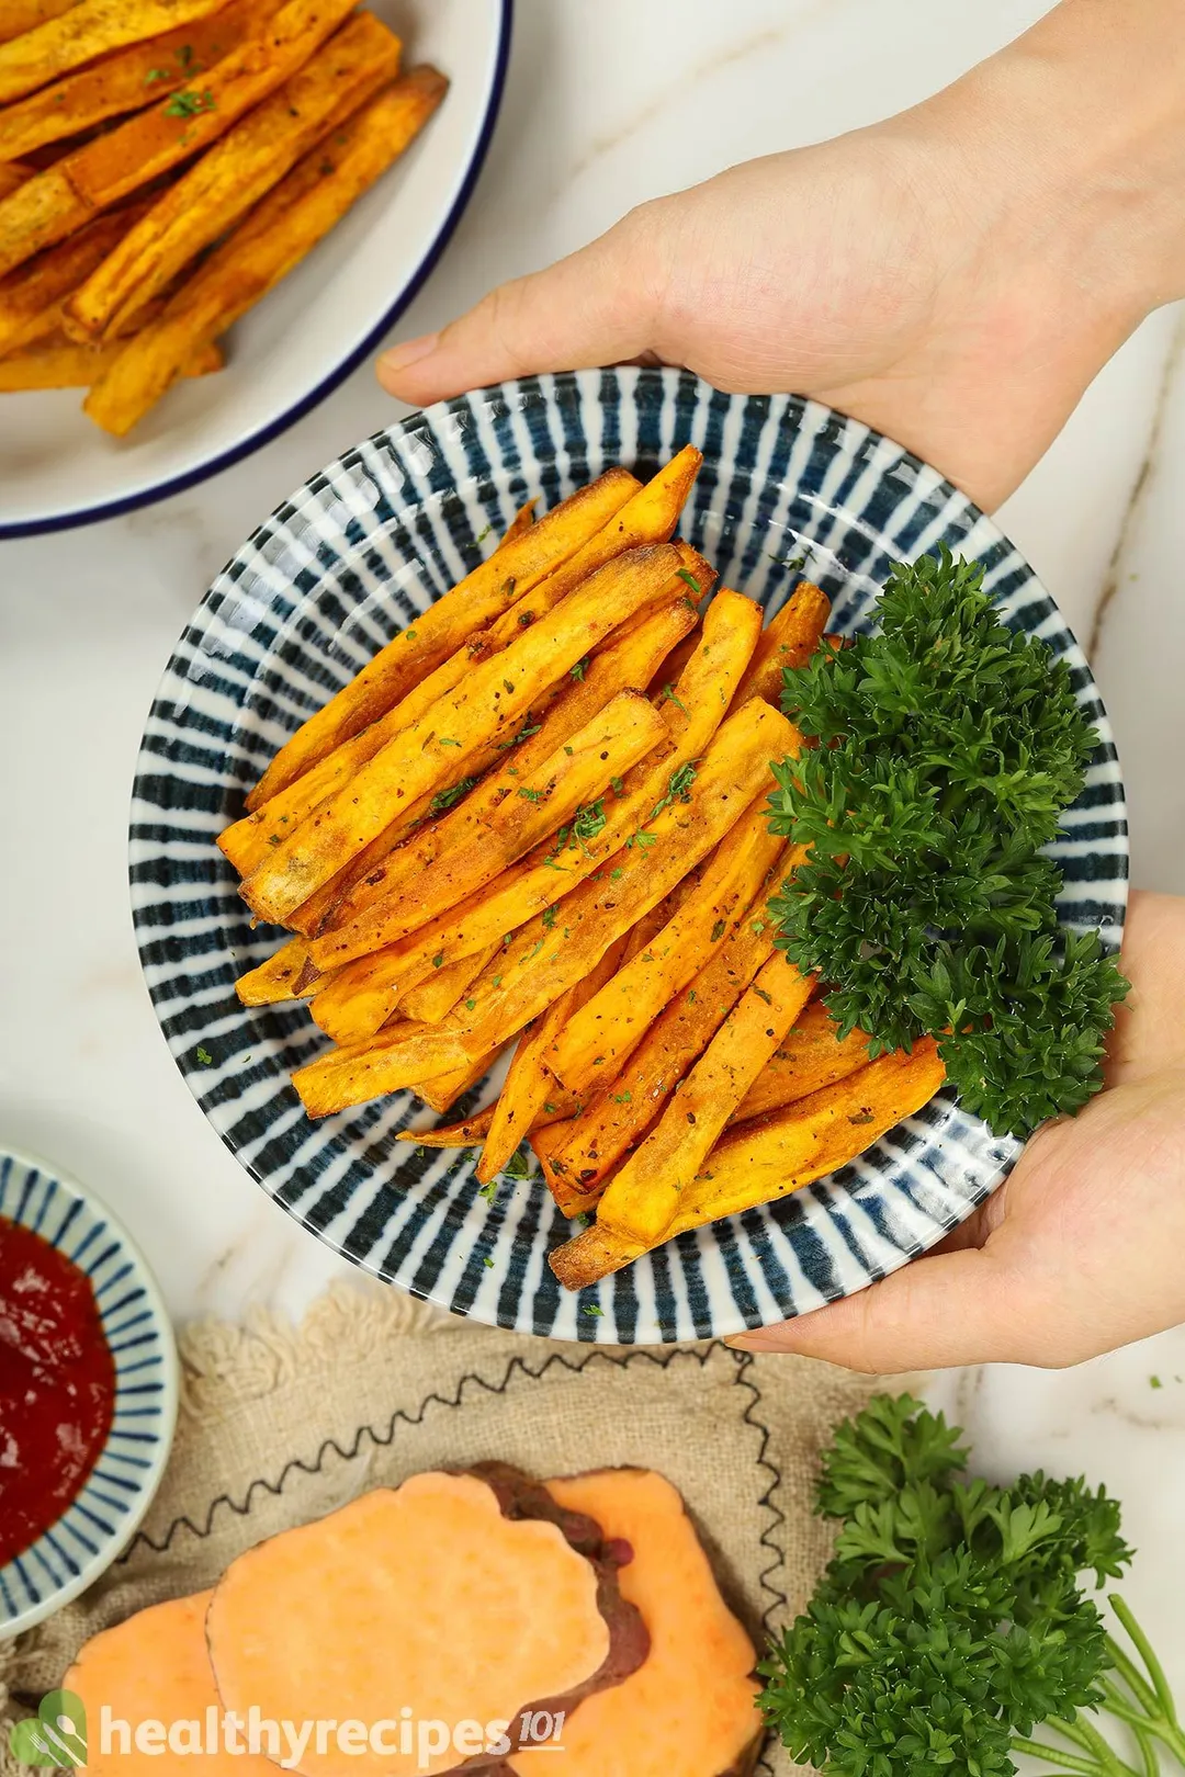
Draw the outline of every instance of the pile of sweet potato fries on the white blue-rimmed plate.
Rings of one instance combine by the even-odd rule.
[[[124,435],[441,103],[355,0],[0,0],[0,391]]]

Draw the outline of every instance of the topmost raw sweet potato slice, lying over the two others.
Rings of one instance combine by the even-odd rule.
[[[645,1631],[597,1526],[544,1507],[542,1491],[506,1470],[414,1475],[240,1555],[206,1617],[224,1708],[373,1724],[394,1701],[418,1724],[481,1724],[460,1754],[327,1743],[300,1759],[306,1777],[410,1777],[455,1770],[531,1704],[636,1670]]]

